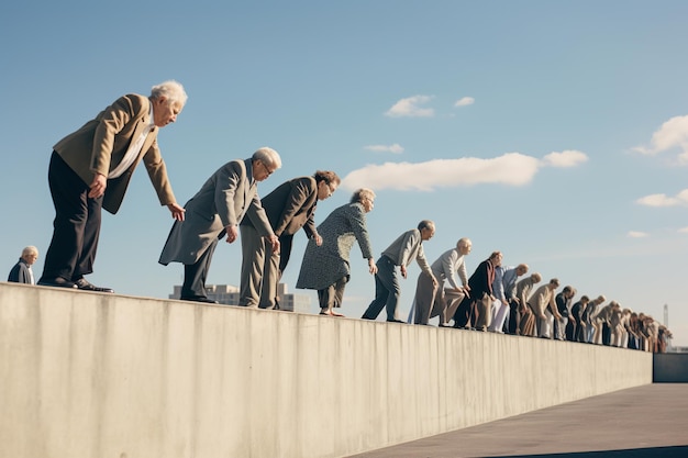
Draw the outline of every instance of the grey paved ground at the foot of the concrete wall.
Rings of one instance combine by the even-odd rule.
[[[654,383],[387,447],[358,458],[688,457],[688,383]]]

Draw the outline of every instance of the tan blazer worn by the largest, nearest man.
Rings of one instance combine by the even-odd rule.
[[[108,176],[124,158],[132,139],[151,124],[151,101],[138,94],[119,98],[78,131],[67,135],[53,147],[86,185],[95,172]],[[160,204],[176,202],[167,178],[165,161],[157,146],[158,127],[147,135],[138,157],[121,177],[108,180],[103,209],[116,213],[124,199],[134,169],[143,159]]]

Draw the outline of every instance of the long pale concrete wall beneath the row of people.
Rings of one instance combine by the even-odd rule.
[[[652,355],[0,283],[0,456],[341,457],[652,382]]]

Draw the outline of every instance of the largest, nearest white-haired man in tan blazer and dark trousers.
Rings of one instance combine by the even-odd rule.
[[[154,86],[149,97],[123,96],[53,147],[48,183],[56,214],[38,284],[112,292],[95,287],[84,276],[93,271],[101,208],[118,212],[141,160],[160,204],[167,205],[175,220],[184,220],[184,209],[167,179],[157,133],[177,120],[186,101],[187,94],[176,81]]]

